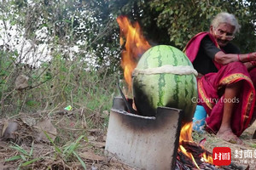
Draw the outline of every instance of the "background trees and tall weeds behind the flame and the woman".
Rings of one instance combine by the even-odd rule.
[[[0,35],[4,40],[0,48],[2,113],[32,112],[62,103],[86,105],[89,112],[109,108],[113,77],[120,69],[116,22],[120,14],[139,21],[153,45],[183,49],[197,32],[209,29],[215,14],[228,11],[242,26],[234,42],[242,52],[256,50],[253,0],[12,0],[0,7],[4,32]],[[16,48],[10,31],[17,31],[17,45],[29,42],[31,48]],[[47,44],[47,53],[40,51],[42,44]],[[38,55],[41,58],[31,61]],[[21,92],[15,90],[15,78],[20,74],[29,77],[29,87]]]

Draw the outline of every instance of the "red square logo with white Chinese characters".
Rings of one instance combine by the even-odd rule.
[[[212,150],[213,164],[216,166],[228,166],[231,163],[231,150],[229,147],[215,147]]]

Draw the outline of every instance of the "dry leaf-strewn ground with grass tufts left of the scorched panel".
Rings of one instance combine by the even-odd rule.
[[[105,156],[106,134],[106,129],[90,128],[81,117],[78,121],[70,115],[21,113],[0,119],[0,170],[131,170],[115,157]]]

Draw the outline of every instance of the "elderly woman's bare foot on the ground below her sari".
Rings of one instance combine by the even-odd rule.
[[[243,144],[241,139],[239,139],[231,129],[219,130],[216,136],[232,144]]]

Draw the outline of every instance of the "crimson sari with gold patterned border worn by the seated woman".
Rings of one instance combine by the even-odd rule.
[[[201,40],[209,36],[212,42],[218,47],[218,43],[208,32],[201,32],[193,37],[186,48],[185,54],[193,63],[199,51]],[[231,117],[231,128],[233,133],[240,136],[249,126],[253,117],[255,105],[256,68],[248,72],[241,62],[232,62],[228,65],[220,65],[212,60],[218,72],[208,73],[197,79],[199,105],[207,111],[207,131],[217,133],[222,122],[224,102],[234,102],[235,108]],[[227,85],[242,81],[242,88],[236,99],[224,99],[224,88]],[[253,85],[254,84],[254,85]],[[255,115],[255,114],[254,114]]]

